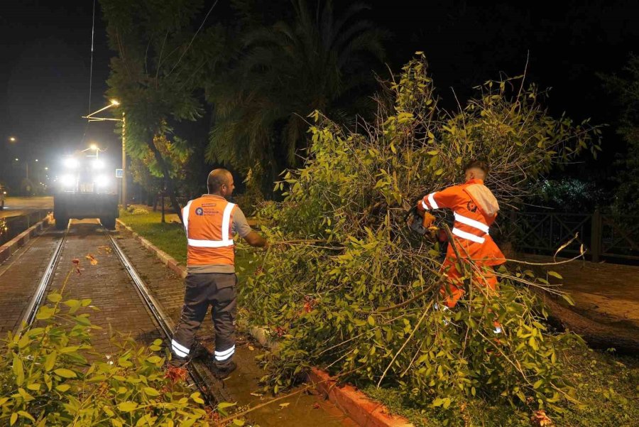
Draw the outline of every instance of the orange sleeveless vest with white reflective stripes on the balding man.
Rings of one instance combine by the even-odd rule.
[[[187,266],[234,265],[231,225],[235,206],[222,196],[203,195],[190,200],[182,209],[187,234]]]

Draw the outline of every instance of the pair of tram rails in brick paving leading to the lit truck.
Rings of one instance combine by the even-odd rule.
[[[72,225],[71,223],[69,223],[69,225],[67,225],[67,228],[65,229],[64,235],[55,245],[53,254],[51,254],[50,256],[45,271],[40,277],[38,286],[37,288],[35,288],[35,291],[33,292],[33,295],[28,305],[26,306],[26,309],[23,311],[21,320],[18,322],[18,325],[16,325],[14,333],[23,333],[23,331],[28,330],[28,328],[33,325],[35,315],[36,313],[38,313],[38,309],[45,300],[46,291],[53,282],[55,272],[58,268],[60,268],[60,258],[62,252],[65,249],[65,245],[68,244],[68,242],[70,241],[69,234],[71,227]],[[116,242],[116,239],[114,239],[113,235],[109,231],[107,231],[107,229],[104,229],[104,227],[100,228],[102,229],[102,235],[105,239],[107,239],[109,246],[112,248],[112,252],[119,259],[122,269],[126,271],[128,279],[131,281],[131,283],[133,283],[133,288],[140,298],[141,303],[143,303],[143,305],[145,306],[147,313],[150,313],[153,320],[155,320],[155,324],[158,325],[160,335],[165,338],[165,342],[170,342],[172,331],[175,330],[173,320],[165,313],[165,310],[163,309],[161,304],[158,303],[158,301],[148,290],[148,286],[141,278],[141,275],[138,274],[138,271],[136,271],[136,268],[133,266],[119,244]],[[210,357],[208,351],[205,350],[203,347],[195,348],[193,352],[196,355],[204,354],[206,355],[205,357]],[[185,366],[185,368],[187,369],[187,372],[189,374],[190,383],[197,387],[197,389],[202,394],[202,397],[204,398],[206,404],[214,407],[217,403],[222,401],[234,401],[233,396],[231,396],[229,389],[225,387],[224,382],[214,377],[214,375],[207,367],[207,364],[204,363],[203,360],[200,360],[196,357],[192,359]]]

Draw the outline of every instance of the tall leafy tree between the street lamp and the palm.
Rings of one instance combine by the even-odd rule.
[[[172,123],[202,117],[195,90],[221,49],[223,31],[212,26],[195,38],[192,21],[201,1],[103,0],[101,4],[109,45],[118,53],[111,59],[109,95],[119,99],[126,112],[127,152],[141,159],[153,153],[149,166],[162,173],[179,212],[173,179],[188,150],[173,136]]]

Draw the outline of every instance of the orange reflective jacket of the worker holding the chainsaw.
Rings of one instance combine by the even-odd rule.
[[[449,242],[444,264],[451,264],[457,258],[452,244],[457,247],[461,258],[469,257],[476,264],[496,266],[506,262],[501,250],[488,234],[499,206],[483,180],[473,179],[430,193],[417,207],[422,211],[448,208],[454,212],[454,242]]]

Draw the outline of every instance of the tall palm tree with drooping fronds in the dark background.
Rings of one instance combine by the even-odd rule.
[[[364,94],[375,84],[386,32],[361,18],[365,4],[335,16],[331,0],[318,1],[314,13],[307,1],[292,0],[292,23],[251,31],[224,80],[207,88],[214,105],[208,161],[260,166],[270,185],[306,147],[308,114],[317,109],[344,122],[372,104]]]

